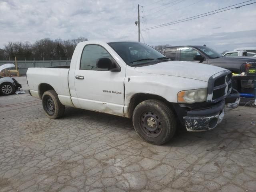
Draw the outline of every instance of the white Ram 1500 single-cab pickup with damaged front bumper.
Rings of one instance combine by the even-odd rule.
[[[188,131],[215,128],[225,107],[239,103],[229,70],[170,61],[138,42],[81,42],[70,66],[29,68],[27,80],[49,118],[60,118],[64,106],[132,118],[138,135],[157,145],[179,122]]]

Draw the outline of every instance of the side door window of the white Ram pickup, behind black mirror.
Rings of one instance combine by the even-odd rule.
[[[86,45],[82,52],[80,69],[107,71],[108,69],[97,68],[96,64],[100,58],[109,58],[112,60],[112,56],[102,46]]]

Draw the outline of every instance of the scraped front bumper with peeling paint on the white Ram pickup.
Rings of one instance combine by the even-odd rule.
[[[234,93],[210,108],[185,110],[183,111],[183,123],[188,131],[211,130],[222,122],[225,112],[238,107],[239,102],[239,93]]]

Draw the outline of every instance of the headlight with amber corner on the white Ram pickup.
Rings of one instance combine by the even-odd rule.
[[[206,101],[207,88],[180,91],[177,95],[178,103],[196,103]]]

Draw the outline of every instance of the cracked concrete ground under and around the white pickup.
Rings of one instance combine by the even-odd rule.
[[[127,118],[66,108],[51,120],[27,93],[0,96],[0,192],[256,191],[253,120],[240,106],[212,131],[154,146]]]

